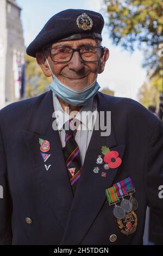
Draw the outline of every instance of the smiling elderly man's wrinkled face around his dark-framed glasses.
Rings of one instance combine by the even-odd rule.
[[[93,39],[80,39],[57,42],[52,45],[52,47],[56,46],[69,46],[72,48],[79,48],[83,46],[99,45],[97,45],[96,40]],[[53,74],[55,74],[55,76],[57,76],[57,78],[62,83],[73,89],[84,89],[92,84],[96,79],[99,62],[84,62],[80,58],[78,52],[73,53],[73,56],[68,63],[55,63],[52,61],[50,54],[48,54],[47,59],[49,65],[51,66]]]

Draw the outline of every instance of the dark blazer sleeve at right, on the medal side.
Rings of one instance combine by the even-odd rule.
[[[163,186],[163,125],[160,120],[148,142],[144,174],[148,206],[155,213],[155,223],[159,223],[159,235],[163,238],[163,198],[159,196],[159,188]]]

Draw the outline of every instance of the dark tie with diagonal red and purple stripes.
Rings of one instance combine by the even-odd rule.
[[[80,154],[78,144],[74,139],[74,131],[72,130],[73,121],[68,120],[68,129],[64,125],[65,129],[65,148],[63,148],[64,157],[66,161],[66,167],[70,177],[70,184],[73,194],[76,192],[77,181],[80,178],[80,172],[82,164],[80,161]]]

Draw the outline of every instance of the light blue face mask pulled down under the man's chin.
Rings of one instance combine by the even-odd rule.
[[[100,88],[97,79],[88,87],[82,90],[74,90],[66,84],[61,83],[58,78],[53,75],[53,82],[50,85],[51,90],[62,100],[71,104],[72,106],[82,106],[95,96]]]

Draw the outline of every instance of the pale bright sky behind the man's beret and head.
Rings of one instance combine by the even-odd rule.
[[[107,21],[106,8],[102,0],[16,0],[16,2],[22,8],[21,20],[26,46],[34,40],[49,18],[65,9],[98,11]],[[109,48],[110,57],[104,72],[98,75],[99,86],[101,89],[114,90],[115,96],[130,97],[138,101],[137,93],[146,80],[146,70],[141,68],[142,52],[136,50],[130,53],[122,50],[120,46],[112,45],[106,26],[102,36],[102,45]]]

